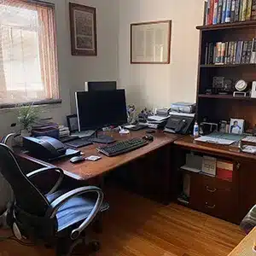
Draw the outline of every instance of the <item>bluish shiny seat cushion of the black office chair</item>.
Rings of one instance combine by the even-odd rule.
[[[50,195],[45,195],[49,203],[55,201],[61,195],[67,193],[68,190],[58,190]],[[65,230],[74,224],[79,225],[81,221],[86,219],[96,204],[96,196],[91,193],[77,195],[68,200],[61,206],[56,213],[58,222],[58,232]],[[108,210],[108,203],[103,202],[101,212]]]

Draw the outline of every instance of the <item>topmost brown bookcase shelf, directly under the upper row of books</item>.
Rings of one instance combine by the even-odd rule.
[[[201,31],[211,31],[211,30],[224,30],[224,29],[249,28],[249,27],[256,27],[256,20],[216,24],[216,25],[210,25],[210,26],[196,26],[196,29]]]

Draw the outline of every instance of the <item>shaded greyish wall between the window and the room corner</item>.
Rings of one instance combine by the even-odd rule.
[[[58,123],[66,122],[66,115],[74,113],[74,91],[84,90],[84,81],[118,78],[118,0],[77,0],[96,7],[98,55],[96,57],[72,56],[69,30],[68,0],[49,0],[55,3],[56,38],[60,95],[62,103],[49,105],[44,116],[51,116]],[[16,110],[0,109],[0,136],[9,133],[10,124],[17,122]]]

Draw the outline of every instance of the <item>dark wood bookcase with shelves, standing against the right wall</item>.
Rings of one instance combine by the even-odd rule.
[[[256,81],[256,64],[205,65],[207,43],[226,41],[245,41],[256,38],[256,20],[212,26],[197,26],[200,30],[200,54],[197,83],[197,120],[207,119],[218,123],[230,118],[245,119],[245,129],[256,124],[256,99],[238,98],[232,95],[206,95],[206,89],[212,87],[215,76],[239,79],[251,83]]]

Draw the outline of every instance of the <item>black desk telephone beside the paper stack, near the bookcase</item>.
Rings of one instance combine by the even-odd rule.
[[[172,115],[166,124],[164,131],[179,134],[189,134],[192,130],[195,117],[189,117],[186,115]]]

